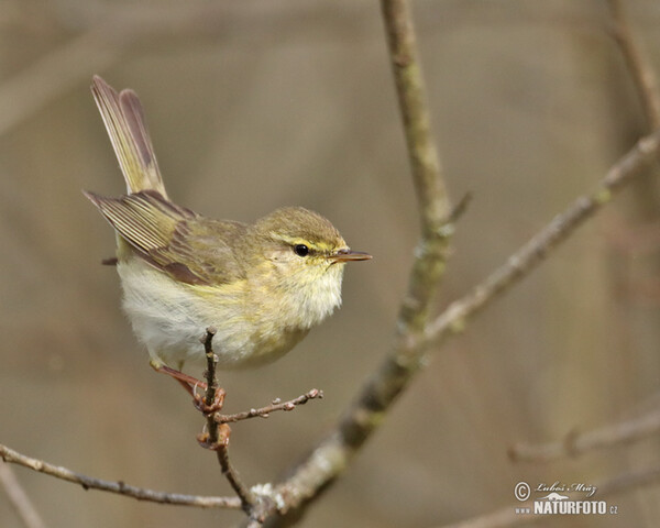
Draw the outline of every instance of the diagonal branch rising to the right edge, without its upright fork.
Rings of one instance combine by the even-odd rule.
[[[420,352],[463,330],[470,317],[486,308],[506,289],[531,273],[561,241],[609,202],[617,190],[632,182],[640,168],[651,163],[659,151],[660,132],[640,140],[609,169],[595,191],[576,199],[516,252],[504,266],[465,297],[451,304],[433,321],[421,341],[411,340],[409,345]],[[420,361],[424,361],[424,358]],[[415,374],[416,371],[398,364],[392,356],[384,361],[365,383],[337,428],[293,470],[290,477],[276,486],[277,494],[286,502],[282,512],[308,503],[318,496],[319,490],[326,488],[344,471],[356,450],[383,422],[384,413]]]

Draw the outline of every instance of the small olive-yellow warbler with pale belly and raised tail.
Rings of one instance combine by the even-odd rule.
[[[344,264],[371,255],[351,251],[327,219],[301,207],[245,224],[169,201],[135,92],[117,94],[98,76],[91,90],[128,194],[85,196],[117,232],[110,261],[152,366],[204,367],[200,338],[210,326],[219,367],[265,363],[340,306]]]

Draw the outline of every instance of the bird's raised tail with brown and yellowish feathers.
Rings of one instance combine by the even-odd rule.
[[[119,160],[128,194],[155,190],[167,199],[138,95],[130,89],[117,94],[98,75],[94,77],[91,91]]]

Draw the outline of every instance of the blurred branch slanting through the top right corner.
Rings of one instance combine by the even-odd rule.
[[[613,35],[622,51],[632,82],[644,106],[649,130],[660,128],[660,88],[648,57],[635,38],[620,0],[607,0],[614,22]]]

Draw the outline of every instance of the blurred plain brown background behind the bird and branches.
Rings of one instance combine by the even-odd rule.
[[[190,398],[155,374],[120,311],[109,226],[80,194],[123,183],[89,84],[135,89],[169,195],[243,221],[315,209],[369,263],[344,306],[280,361],[221,376],[226,409],[326,399],[233,427],[250,483],[327,432],[388,351],[417,216],[378,4],[0,0],[0,442],[107,480],[230,494],[197,446]],[[592,188],[646,132],[606,3],[418,0],[420,51],[451,195],[474,195],[439,309]],[[660,7],[625,2],[660,69]],[[660,208],[652,180],[616,202],[433,355],[305,527],[430,527],[514,505],[514,485],[597,484],[660,463],[657,439],[553,463],[560,440],[657,406]],[[242,514],[84,492],[21,468],[51,527],[231,526]],[[612,496],[656,526],[658,488]],[[0,492],[0,526],[21,526]]]

